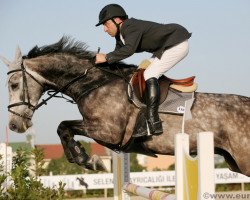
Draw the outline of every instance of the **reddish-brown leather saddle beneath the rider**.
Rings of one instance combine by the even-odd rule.
[[[142,103],[146,102],[145,101],[146,82],[144,80],[144,75],[143,75],[144,71],[145,69],[137,70],[131,78],[131,83],[132,83],[134,94],[136,95],[138,100],[141,101]],[[184,79],[178,79],[178,80],[171,79],[166,76],[161,76],[159,78],[160,93],[161,93],[160,104],[166,100],[167,94],[168,94],[168,88],[171,85],[177,86],[176,88],[178,88],[178,86],[190,87],[194,84],[194,79],[195,79],[195,76],[191,76],[191,77],[184,78]]]

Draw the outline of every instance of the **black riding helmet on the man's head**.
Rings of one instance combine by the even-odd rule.
[[[128,18],[125,10],[118,4],[109,4],[106,5],[99,14],[99,23],[96,26],[100,26],[104,24],[109,19],[113,19],[114,17],[121,17],[124,19]],[[112,20],[114,21],[114,20]]]

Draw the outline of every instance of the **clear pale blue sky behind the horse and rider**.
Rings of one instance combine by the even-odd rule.
[[[0,0],[0,55],[12,60],[17,45],[25,55],[35,45],[55,43],[64,35],[85,42],[91,51],[100,47],[108,53],[115,40],[95,24],[99,11],[110,3],[123,6],[129,17],[178,23],[192,33],[188,56],[167,76],[195,75],[199,92],[250,96],[249,0]],[[149,57],[135,54],[125,62],[139,64]],[[0,142],[5,141],[8,124],[7,72],[0,61]],[[28,132],[35,136],[35,144],[58,144],[59,123],[80,118],[76,105],[52,99],[35,112]],[[26,134],[9,130],[9,142],[25,141]]]

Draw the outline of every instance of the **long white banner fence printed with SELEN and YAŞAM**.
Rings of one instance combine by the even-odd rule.
[[[41,176],[41,182],[46,187],[57,187],[59,182],[66,183],[66,190],[86,189],[77,178],[83,178],[88,189],[114,188],[113,173],[78,174],[61,176]],[[130,182],[145,187],[175,186],[175,171],[131,172]],[[215,184],[250,183],[250,177],[232,172],[229,169],[215,169]]]

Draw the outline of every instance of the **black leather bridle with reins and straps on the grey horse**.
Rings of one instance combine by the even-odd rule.
[[[23,61],[22,61],[20,69],[11,70],[11,71],[9,71],[7,73],[7,75],[10,75],[10,74],[13,74],[13,73],[21,71],[22,72],[22,78],[23,78],[23,88],[22,88],[23,95],[22,95],[22,100],[20,102],[18,102],[18,103],[10,104],[8,106],[8,111],[11,112],[11,113],[13,113],[14,115],[19,116],[19,117],[31,120],[31,116],[27,116],[27,115],[23,115],[23,114],[17,113],[15,111],[11,110],[11,108],[17,107],[17,106],[21,106],[21,105],[25,105],[25,106],[28,106],[28,108],[34,112],[35,110],[37,110],[38,108],[40,108],[42,105],[47,105],[47,101],[49,101],[51,98],[53,98],[53,97],[60,97],[60,96],[56,96],[56,95],[58,93],[60,93],[60,92],[66,91],[69,88],[69,86],[71,86],[76,81],[78,81],[78,80],[82,79],[83,77],[85,77],[87,75],[88,71],[91,70],[91,69],[93,69],[93,68],[95,68],[95,67],[98,68],[98,69],[100,69],[100,70],[102,70],[102,71],[104,71],[104,72],[106,72],[106,73],[109,73],[109,74],[112,74],[114,76],[120,77],[120,78],[124,79],[125,82],[127,82],[129,84],[129,81],[126,78],[127,74],[123,74],[123,72],[119,69],[119,67],[117,67],[117,69],[119,70],[119,73],[115,73],[112,70],[109,70],[109,69],[104,68],[104,67],[98,67],[95,64],[93,64],[93,66],[91,66],[88,69],[86,69],[84,71],[84,73],[82,73],[79,76],[77,76],[76,78],[72,79],[66,85],[64,85],[63,87],[59,88],[58,90],[56,90],[56,91],[54,91],[54,90],[48,91],[48,95],[49,95],[48,98],[42,99],[42,102],[38,103],[37,105],[32,105],[31,101],[30,101],[30,94],[29,94],[29,88],[28,88],[28,83],[27,83],[27,76],[30,76],[36,83],[38,83],[43,88],[43,93],[46,91],[46,87],[42,83],[40,83],[32,74],[30,74],[25,69],[25,66],[24,66]],[[83,96],[86,96],[90,91],[93,91],[93,90],[101,87],[102,85],[104,85],[106,83],[107,83],[107,81],[102,82],[102,83],[94,86],[93,88],[89,89],[88,91],[86,91],[82,95],[80,95],[77,98],[77,100],[79,100]],[[54,92],[54,93],[50,94],[50,92]],[[27,100],[26,100],[26,96],[27,96]],[[66,99],[65,97],[60,97],[60,98]],[[66,100],[68,100],[68,99],[66,99]],[[73,103],[72,100],[68,100],[68,101],[71,102],[71,103]]]

